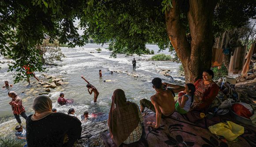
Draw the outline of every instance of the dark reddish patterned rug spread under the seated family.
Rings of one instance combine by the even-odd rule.
[[[120,147],[256,147],[256,127],[236,122],[245,127],[245,133],[237,137],[237,142],[224,143],[206,128],[204,119],[200,118],[200,112],[190,111],[186,115],[174,112],[170,117],[162,118],[158,129],[147,126],[147,122],[152,121],[155,121],[154,113],[146,115],[143,129],[145,134],[139,142],[121,144]],[[211,120],[207,119],[207,126],[226,121],[233,120],[229,115],[216,116]],[[107,134],[104,137],[105,139],[102,138],[106,147],[115,147],[113,140],[107,138]]]

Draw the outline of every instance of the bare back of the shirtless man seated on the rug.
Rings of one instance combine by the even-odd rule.
[[[169,90],[157,92],[156,94],[151,96],[151,102],[152,104],[154,102],[157,103],[162,114],[165,116],[173,114],[175,110],[175,101],[173,98],[173,93]]]

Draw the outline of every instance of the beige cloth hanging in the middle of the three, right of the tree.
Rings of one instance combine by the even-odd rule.
[[[230,58],[229,72],[240,74],[245,63],[246,46],[236,47],[233,50],[233,56]]]

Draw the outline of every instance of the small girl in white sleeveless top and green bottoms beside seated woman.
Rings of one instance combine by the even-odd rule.
[[[186,94],[179,97],[177,103],[175,104],[175,110],[180,114],[188,113],[194,99],[194,93],[196,91],[196,87],[192,83],[185,84],[184,87],[184,92]]]

